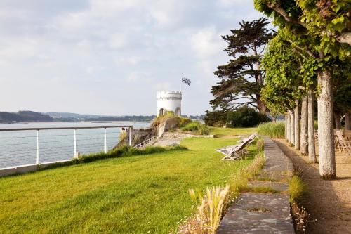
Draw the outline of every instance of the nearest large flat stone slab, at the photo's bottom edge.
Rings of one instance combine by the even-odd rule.
[[[242,194],[227,211],[216,233],[294,233],[289,195]]]

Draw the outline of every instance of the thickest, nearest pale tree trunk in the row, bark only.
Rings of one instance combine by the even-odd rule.
[[[318,72],[318,143],[319,174],[324,179],[336,178],[333,132],[333,86],[329,70]]]

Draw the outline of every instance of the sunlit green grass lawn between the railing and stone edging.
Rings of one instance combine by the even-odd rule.
[[[170,233],[194,211],[189,188],[224,184],[251,162],[255,152],[220,160],[214,149],[235,141],[188,138],[189,150],[0,178],[0,233]]]

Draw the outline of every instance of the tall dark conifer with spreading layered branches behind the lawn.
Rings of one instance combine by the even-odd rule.
[[[251,105],[260,112],[267,112],[260,97],[264,75],[260,69],[260,58],[265,45],[274,36],[268,24],[265,18],[243,20],[239,29],[223,36],[227,42],[224,51],[232,59],[226,65],[218,66],[215,72],[220,82],[212,86],[214,99],[211,105],[214,109],[234,110],[241,105]]]

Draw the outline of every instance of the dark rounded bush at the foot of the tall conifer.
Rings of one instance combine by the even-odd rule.
[[[227,114],[227,126],[229,127],[257,126],[261,122],[269,121],[267,116],[246,105]]]

